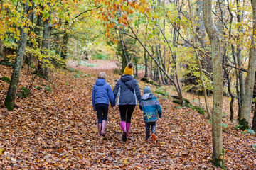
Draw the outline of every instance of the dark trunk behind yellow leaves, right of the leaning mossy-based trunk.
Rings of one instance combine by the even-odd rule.
[[[51,14],[50,11],[48,11],[49,14]],[[42,49],[43,49],[43,55],[45,56],[43,60],[49,60],[50,55],[50,33],[52,30],[52,25],[50,23],[51,19],[50,16],[46,21],[43,22],[43,40],[42,40]],[[46,62],[39,61],[38,62],[38,72],[43,75],[46,79],[48,79],[48,66]]]

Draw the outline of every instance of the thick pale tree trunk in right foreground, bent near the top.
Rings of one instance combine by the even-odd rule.
[[[222,136],[222,111],[223,111],[223,72],[221,64],[220,35],[213,23],[212,1],[203,1],[203,21],[206,33],[210,39],[211,55],[213,60],[213,162],[216,166],[224,168],[223,136]]]

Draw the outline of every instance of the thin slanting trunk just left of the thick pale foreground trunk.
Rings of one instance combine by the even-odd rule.
[[[202,66],[201,66],[201,62],[200,62],[200,58],[198,55],[198,50],[196,48],[196,42],[195,42],[195,28],[193,27],[193,13],[192,13],[192,7],[191,7],[191,0],[188,0],[188,6],[189,6],[189,11],[190,11],[190,15],[191,15],[191,28],[193,30],[193,37],[192,37],[192,42],[193,42],[193,49],[196,53],[196,60],[198,62],[198,67],[199,67],[199,72],[200,72],[200,80],[201,80],[201,84],[203,86],[203,94],[204,94],[204,98],[205,98],[205,103],[206,103],[206,112],[207,112],[207,118],[210,119],[210,109],[209,109],[209,105],[208,105],[208,98],[207,98],[207,91],[206,91],[206,86],[204,84],[203,81],[203,71],[202,71]]]

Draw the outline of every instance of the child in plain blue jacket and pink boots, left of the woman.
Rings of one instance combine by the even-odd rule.
[[[107,84],[106,82],[107,75],[105,72],[100,72],[97,78],[98,79],[92,88],[92,106],[93,110],[97,111],[97,136],[100,137],[101,135],[105,136],[109,101],[112,107],[115,106],[115,101],[110,84]]]

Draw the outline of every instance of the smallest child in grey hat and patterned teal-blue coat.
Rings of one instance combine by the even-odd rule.
[[[150,127],[152,132],[152,142],[156,142],[156,121],[161,118],[162,111],[158,99],[151,93],[149,86],[143,90],[139,108],[143,111],[144,123],[146,125],[146,141],[149,141]]]

